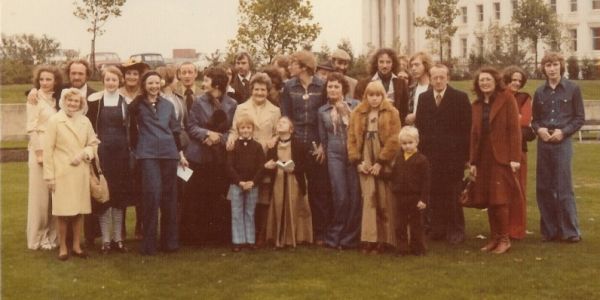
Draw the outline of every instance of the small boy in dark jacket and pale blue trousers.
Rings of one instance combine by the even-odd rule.
[[[244,245],[255,246],[254,209],[258,199],[258,183],[262,178],[265,154],[259,142],[252,139],[254,120],[242,116],[235,124],[239,138],[227,153],[227,173],[231,180],[231,239],[233,252]]]

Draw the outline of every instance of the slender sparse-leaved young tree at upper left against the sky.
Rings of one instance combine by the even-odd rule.
[[[92,66],[96,66],[96,37],[104,34],[105,30],[102,29],[110,17],[120,17],[121,7],[125,4],[126,0],[76,0],[73,2],[75,10],[73,15],[87,21],[90,25],[87,28],[87,32],[92,34],[91,50],[90,50],[90,63]]]

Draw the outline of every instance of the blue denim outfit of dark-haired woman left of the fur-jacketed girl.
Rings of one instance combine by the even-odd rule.
[[[360,102],[345,99],[353,109]],[[331,119],[331,104],[319,108],[319,136],[327,155],[332,193],[332,220],[327,228],[325,242],[330,247],[356,247],[360,237],[362,205],[360,183],[356,166],[348,160],[347,125],[336,125]]]

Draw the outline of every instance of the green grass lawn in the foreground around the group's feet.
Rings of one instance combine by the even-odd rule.
[[[27,168],[2,171],[2,299],[600,299],[600,144],[575,143],[575,193],[583,242],[542,243],[530,148],[529,230],[506,255],[478,251],[486,213],[466,209],[467,241],[429,242],[423,258],[364,256],[315,247],[234,254],[183,248],[171,255],[137,252],[86,261],[26,249]],[[132,210],[130,210],[132,211]],[[132,221],[129,214],[129,224]],[[128,228],[132,228],[129,226]],[[131,232],[129,234],[131,236]],[[133,241],[127,242],[132,249]],[[596,278],[596,279],[594,279]],[[594,283],[596,282],[596,283]]]

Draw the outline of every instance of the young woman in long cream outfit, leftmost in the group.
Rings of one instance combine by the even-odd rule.
[[[42,65],[33,72],[33,85],[38,90],[37,103],[27,102],[29,134],[29,189],[27,192],[27,248],[56,248],[55,220],[48,211],[50,198],[43,174],[43,142],[48,119],[56,113],[57,89],[62,77],[58,68]]]

